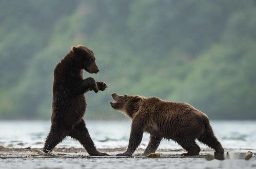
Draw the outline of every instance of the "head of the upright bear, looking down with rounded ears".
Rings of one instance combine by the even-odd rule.
[[[100,71],[95,63],[93,52],[86,46],[73,46],[72,52],[74,54],[74,59],[76,60],[76,65],[79,68],[85,69],[90,74],[96,74]]]

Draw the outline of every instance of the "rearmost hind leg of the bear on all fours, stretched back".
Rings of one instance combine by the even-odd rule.
[[[224,149],[223,149],[221,143],[219,142],[219,140],[215,137],[215,135],[213,133],[213,130],[210,126],[210,122],[209,122],[208,118],[205,119],[204,125],[205,125],[205,131],[198,138],[198,140],[200,142],[203,142],[210,148],[214,149],[216,152],[224,153]]]

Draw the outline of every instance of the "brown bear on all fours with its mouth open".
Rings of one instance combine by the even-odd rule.
[[[185,156],[199,155],[200,148],[195,139],[218,153],[224,153],[208,117],[189,104],[115,93],[112,98],[115,102],[110,102],[111,106],[132,118],[128,149],[117,156],[131,156],[141,143],[144,132],[150,134],[150,141],[143,155],[154,153],[163,138],[178,142],[188,152],[182,154]]]

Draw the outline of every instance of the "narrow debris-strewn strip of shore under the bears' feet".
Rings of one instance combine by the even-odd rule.
[[[144,149],[137,149],[130,157],[115,156],[115,154],[126,151],[126,147],[97,149],[101,152],[108,153],[110,156],[90,156],[83,148],[54,148],[51,153],[44,153],[41,148],[5,148],[0,147],[0,159],[7,158],[148,158],[142,156]],[[247,153],[248,151],[256,154],[253,149],[225,149],[225,153]],[[158,158],[206,158],[208,154],[213,154],[210,149],[202,149],[198,156],[181,156],[186,153],[183,149],[158,149],[160,153]]]

